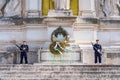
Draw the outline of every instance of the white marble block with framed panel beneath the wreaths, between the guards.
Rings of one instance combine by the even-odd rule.
[[[79,61],[82,62],[82,53],[79,45],[75,45],[75,43],[70,43],[69,46],[65,48],[65,52],[59,55],[54,55],[50,52],[49,46],[46,49],[38,50],[38,62],[53,62],[53,61]]]

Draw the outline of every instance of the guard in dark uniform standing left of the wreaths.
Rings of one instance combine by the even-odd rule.
[[[27,52],[29,51],[29,47],[26,44],[26,41],[23,41],[22,45],[20,46],[20,51],[21,51],[21,54],[20,54],[20,64],[23,63],[23,58],[25,60],[25,64],[27,64],[28,63]]]

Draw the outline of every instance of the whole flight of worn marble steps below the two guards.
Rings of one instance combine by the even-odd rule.
[[[0,65],[0,80],[120,80],[120,65]]]

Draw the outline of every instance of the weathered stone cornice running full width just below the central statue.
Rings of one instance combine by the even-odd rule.
[[[76,21],[78,19],[78,21]],[[39,17],[39,18],[1,18],[2,26],[49,25],[50,23],[74,23],[79,25],[120,25],[120,18],[88,18],[88,17]]]

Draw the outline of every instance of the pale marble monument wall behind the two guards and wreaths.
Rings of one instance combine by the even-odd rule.
[[[5,5],[4,1],[1,0],[0,4],[4,3]],[[21,0],[10,0],[6,8],[3,9],[4,15],[0,11],[0,16],[4,16],[0,18],[0,51],[18,53],[7,59],[13,63],[19,63],[19,50],[10,41],[16,40],[18,44],[21,44],[23,40],[26,40],[30,46],[29,63],[38,62],[38,50],[41,47],[48,50],[51,43],[51,33],[62,26],[69,33],[70,41],[80,46],[84,64],[94,63],[91,41],[94,43],[96,39],[100,40],[104,49],[104,64],[113,64],[114,61],[116,61],[115,64],[119,64],[119,57],[114,56],[114,53],[119,56],[120,48],[119,11],[115,6],[115,2],[118,0],[115,0],[114,3],[110,1],[113,0],[79,0],[79,16],[40,17],[41,15],[38,14],[42,11],[40,5],[42,0],[26,0],[26,3],[23,0],[22,2]],[[37,5],[34,6],[32,2]],[[98,5],[95,5],[94,2]],[[9,7],[12,8],[9,9]],[[21,10],[24,12],[24,18],[10,17],[23,16]],[[17,24],[19,22],[21,24]],[[0,53],[2,56],[3,53]]]

